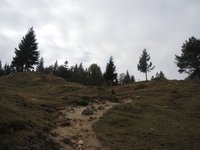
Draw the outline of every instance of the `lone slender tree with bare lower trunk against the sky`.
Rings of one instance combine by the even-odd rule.
[[[146,81],[148,80],[147,72],[150,72],[155,67],[155,66],[152,66],[152,62],[149,62],[149,61],[150,61],[150,54],[148,54],[146,49],[144,49],[142,51],[141,57],[139,58],[139,64],[137,65],[137,68],[140,72],[145,73]]]

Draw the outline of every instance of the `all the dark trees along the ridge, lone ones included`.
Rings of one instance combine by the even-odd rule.
[[[176,64],[179,68],[178,71],[180,73],[188,73],[188,79],[200,79],[200,40],[195,37],[189,38],[189,41],[185,41],[183,44],[181,52],[181,56],[175,55]],[[146,80],[148,80],[147,74],[154,68],[155,66],[150,62],[150,54],[144,49],[137,65],[138,71],[144,73]],[[58,62],[56,61],[53,65],[44,67],[44,59],[43,57],[40,58],[38,43],[33,27],[31,27],[22,38],[18,48],[15,48],[15,56],[13,57],[11,64],[9,65],[6,63],[3,66],[0,61],[0,76],[27,71],[53,74],[62,77],[67,81],[78,82],[85,85],[106,84],[113,86],[135,82],[135,77],[130,75],[128,70],[126,73],[121,73],[118,76],[112,56],[106,65],[104,73],[97,64],[91,64],[85,69],[82,63],[69,67],[68,61],[65,61],[62,65],[58,65]],[[166,80],[166,77],[164,73],[160,71],[159,73],[156,73],[155,76],[152,76],[151,79]]]

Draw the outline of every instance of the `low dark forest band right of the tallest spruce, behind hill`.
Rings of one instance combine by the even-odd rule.
[[[56,61],[54,65],[44,67],[44,59],[41,58],[39,64],[36,67],[37,72],[53,74],[55,76],[62,77],[70,82],[78,82],[84,85],[118,85],[118,78],[116,73],[116,66],[114,65],[113,57],[111,56],[107,65],[106,71],[102,73],[100,66],[97,64],[91,64],[89,68],[84,69],[82,63],[68,67],[68,61],[65,61],[63,65],[58,65]],[[128,78],[128,79],[126,79]],[[123,84],[134,83],[134,76],[125,77],[126,82]]]

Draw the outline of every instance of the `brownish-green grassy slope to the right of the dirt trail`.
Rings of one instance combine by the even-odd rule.
[[[95,125],[113,150],[200,149],[200,83],[140,82],[115,88],[120,99]]]

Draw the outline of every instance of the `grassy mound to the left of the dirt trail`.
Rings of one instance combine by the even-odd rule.
[[[1,77],[0,88],[0,149],[58,149],[48,137],[58,110],[111,93],[37,73]]]

